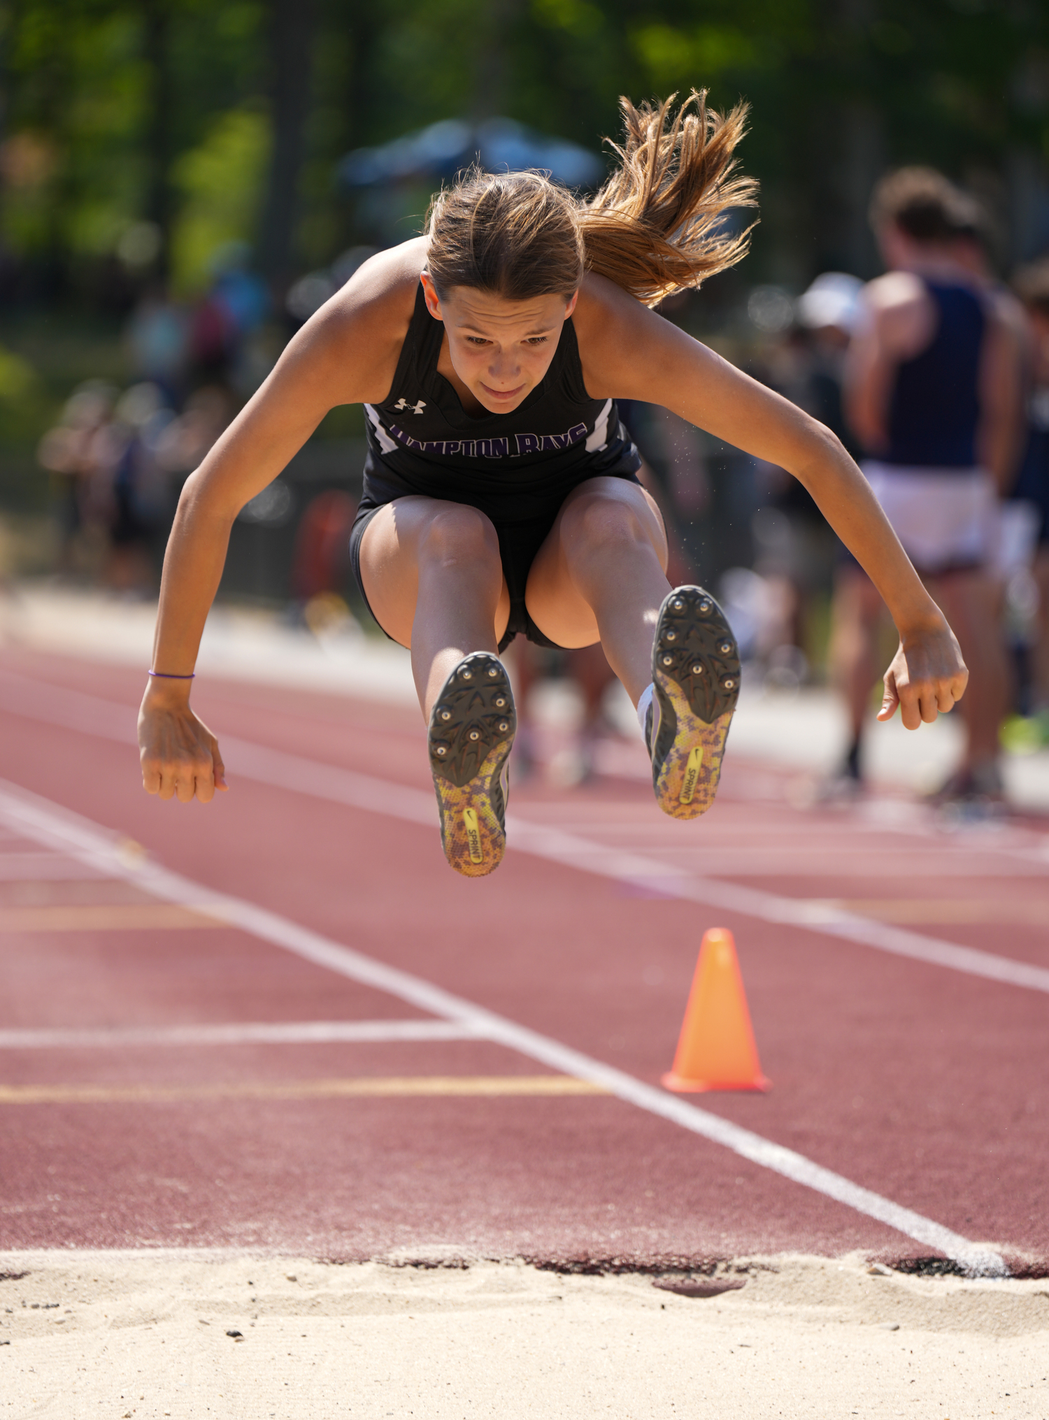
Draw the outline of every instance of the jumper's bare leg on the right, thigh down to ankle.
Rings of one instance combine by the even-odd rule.
[[[600,640],[637,700],[652,682],[652,639],[670,591],[667,538],[653,498],[625,479],[588,479],[569,496],[528,575],[532,621],[559,646]]]

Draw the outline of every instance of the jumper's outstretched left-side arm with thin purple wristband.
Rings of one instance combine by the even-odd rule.
[[[189,476],[167,540],[153,670],[187,676],[219,589],[230,528],[335,405],[380,400],[393,379],[423,257],[406,243],[365,267],[291,339],[270,378]],[[219,746],[189,707],[190,680],[150,677],[139,711],[142,782],[207,802],[226,788]]]

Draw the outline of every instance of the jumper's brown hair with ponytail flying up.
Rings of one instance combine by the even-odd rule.
[[[619,166],[589,200],[538,172],[474,168],[430,204],[429,270],[439,293],[466,285],[528,300],[571,294],[598,271],[646,305],[697,287],[747,253],[751,229],[725,212],[757,206],[757,183],[735,172],[747,105],[721,115],[693,89],[671,116],[661,104],[620,99]]]

